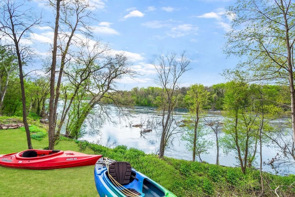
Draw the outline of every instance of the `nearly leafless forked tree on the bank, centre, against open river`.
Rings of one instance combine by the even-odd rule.
[[[159,157],[164,156],[165,147],[171,136],[176,134],[176,127],[173,127],[175,120],[173,111],[177,103],[176,89],[179,86],[181,76],[189,70],[191,61],[187,58],[185,52],[177,57],[176,53],[163,55],[162,53],[155,55],[151,64],[155,66],[157,71],[156,83],[162,88],[159,101],[159,108],[162,112],[162,134],[160,140]],[[171,127],[172,126],[172,127]],[[176,132],[175,132],[176,131]]]

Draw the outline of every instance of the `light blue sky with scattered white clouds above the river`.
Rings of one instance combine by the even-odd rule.
[[[234,67],[236,57],[226,58],[222,46],[224,33],[230,30],[230,18],[222,14],[235,1],[230,0],[185,0],[185,1],[114,1],[90,0],[94,16],[94,36],[109,43],[116,51],[125,51],[133,61],[134,69],[143,76],[135,80],[125,78],[122,89],[155,86],[155,70],[149,63],[155,53],[186,50],[191,59],[192,70],[182,79],[182,86],[201,83],[212,85],[224,82],[220,73]],[[45,20],[52,20],[52,9],[42,1],[30,3],[36,10],[43,9]],[[53,20],[52,20],[53,22]],[[36,50],[45,55],[53,35],[52,29],[36,30]],[[38,44],[39,43],[39,44]],[[145,72],[145,73],[144,73]]]

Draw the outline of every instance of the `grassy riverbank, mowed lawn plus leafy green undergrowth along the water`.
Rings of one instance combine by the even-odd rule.
[[[34,122],[31,122],[34,123]],[[36,125],[39,124],[36,122]],[[48,146],[47,137],[32,139],[35,149]],[[25,132],[21,129],[0,130],[0,154],[19,152],[27,148]],[[177,196],[258,196],[258,170],[248,169],[242,174],[238,167],[190,162],[165,157],[126,146],[114,149],[86,141],[62,138],[55,149],[73,150],[88,154],[103,154],[119,161],[128,161],[138,171],[149,176]],[[93,167],[56,170],[20,170],[0,167],[0,196],[98,196],[94,185]],[[278,176],[264,173],[266,196],[274,196],[277,185],[290,185],[294,175]],[[31,185],[31,186],[29,186]],[[286,196],[295,191],[283,188]]]

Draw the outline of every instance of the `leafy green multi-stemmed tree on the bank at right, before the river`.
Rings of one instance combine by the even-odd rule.
[[[248,84],[242,81],[226,83],[225,108],[229,111],[224,123],[222,145],[225,152],[234,150],[240,163],[241,171],[246,172],[255,159],[258,144],[258,112],[252,110]]]

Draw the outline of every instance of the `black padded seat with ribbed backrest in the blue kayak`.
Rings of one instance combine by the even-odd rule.
[[[120,185],[127,185],[130,183],[132,167],[128,162],[112,162],[109,165],[109,176],[112,176],[114,180],[116,180]],[[112,181],[112,180],[111,180]],[[126,193],[127,191],[135,193],[137,195],[141,195],[138,191],[133,188],[127,188],[121,190],[122,193]],[[129,197],[129,196],[127,196]]]

